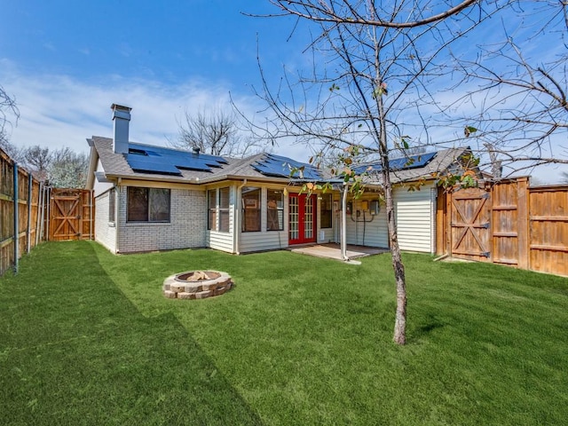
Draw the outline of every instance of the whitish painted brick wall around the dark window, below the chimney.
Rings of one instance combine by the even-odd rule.
[[[170,223],[126,222],[127,188],[120,187],[118,206],[118,251],[169,250],[206,246],[207,198],[205,191],[172,189]],[[106,213],[108,214],[108,213]]]

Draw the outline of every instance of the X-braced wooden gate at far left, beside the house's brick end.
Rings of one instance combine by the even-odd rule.
[[[87,189],[51,189],[50,241],[92,240],[94,203]]]

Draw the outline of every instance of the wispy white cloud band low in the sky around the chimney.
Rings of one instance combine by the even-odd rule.
[[[177,135],[177,120],[185,111],[231,108],[225,83],[193,80],[172,86],[121,75],[92,83],[67,75],[26,75],[7,60],[0,60],[0,69],[0,81],[20,109],[11,134],[17,146],[68,146],[87,152],[86,138],[112,137],[113,103],[132,107],[131,140],[164,146]],[[247,94],[233,93],[233,99],[245,114],[257,109],[256,99]]]

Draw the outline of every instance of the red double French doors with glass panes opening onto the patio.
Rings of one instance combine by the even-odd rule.
[[[292,193],[288,203],[289,243],[316,241],[316,196]]]

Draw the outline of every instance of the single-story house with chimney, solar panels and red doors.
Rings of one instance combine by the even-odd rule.
[[[303,182],[325,178],[311,165],[274,154],[234,159],[133,143],[131,108],[114,104],[112,110],[114,138],[87,139],[87,188],[95,197],[95,240],[113,253],[215,248],[241,254],[340,241],[339,187],[301,192]],[[402,249],[436,251],[438,188],[431,173],[453,167],[463,153],[424,154],[392,173]],[[290,168],[301,166],[303,178],[291,178]],[[403,185],[421,177],[427,180],[419,191]],[[347,203],[348,244],[388,248],[377,188],[370,185],[363,197]]]

